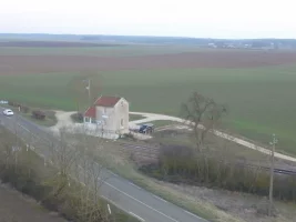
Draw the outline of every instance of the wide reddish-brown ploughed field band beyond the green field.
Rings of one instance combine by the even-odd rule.
[[[201,51],[125,58],[0,56],[0,74],[147,69],[255,68],[296,63],[296,52]]]

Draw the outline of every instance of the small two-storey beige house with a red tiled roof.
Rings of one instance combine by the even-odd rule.
[[[129,102],[119,97],[100,97],[84,112],[84,125],[98,133],[120,135],[129,132]]]

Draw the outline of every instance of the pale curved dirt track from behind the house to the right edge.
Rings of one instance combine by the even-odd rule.
[[[181,123],[185,123],[186,121],[184,119],[181,118],[176,118],[176,117],[171,117],[171,115],[165,115],[165,114],[157,114],[157,113],[149,113],[149,112],[130,112],[130,114],[139,114],[139,115],[143,115],[144,119],[142,120],[135,120],[132,121],[133,124],[140,124],[143,122],[150,122],[150,121],[155,121],[155,120],[171,120],[171,121],[175,121],[175,122],[181,122]],[[186,122],[187,124],[191,124],[192,122]],[[203,128],[203,125],[200,125],[200,128]],[[248,142],[246,140],[229,135],[227,133],[221,132],[218,130],[213,130],[213,133],[217,137],[221,137],[223,139],[229,140],[232,142],[235,142],[237,144],[244,145],[245,148],[252,149],[252,150],[257,150],[262,153],[265,154],[271,154],[271,151],[266,148],[256,145],[252,142]],[[278,152],[275,152],[275,157],[282,160],[287,160],[287,161],[292,161],[292,162],[296,162],[296,158],[289,157],[289,155],[285,155]]]

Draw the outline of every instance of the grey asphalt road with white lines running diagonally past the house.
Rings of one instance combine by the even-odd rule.
[[[20,115],[11,118],[2,114],[3,109],[0,108],[0,122],[7,129],[14,132],[18,130],[18,124],[31,133],[41,137],[50,138],[47,130],[39,127]],[[16,124],[18,123],[18,124]],[[51,140],[54,140],[52,138]],[[48,150],[41,150],[41,154],[47,157]],[[100,170],[98,165],[98,170]],[[161,198],[136,186],[132,182],[112,173],[109,170],[101,172],[102,179],[108,178],[100,188],[100,194],[140,221],[146,222],[205,222],[204,219],[198,218]]]

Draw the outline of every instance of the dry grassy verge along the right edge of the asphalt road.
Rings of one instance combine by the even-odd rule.
[[[108,169],[120,174],[121,176],[133,181],[141,188],[163,198],[164,200],[174,203],[203,219],[213,222],[242,222],[221,210],[216,206],[205,203],[201,200],[196,200],[193,196],[184,195],[174,189],[164,186],[160,181],[143,175],[136,170],[136,167],[129,161],[129,154],[122,153],[115,149],[118,144],[110,142],[104,145],[106,152],[100,151],[94,153],[98,162],[104,163]],[[104,153],[104,154],[102,154]]]

